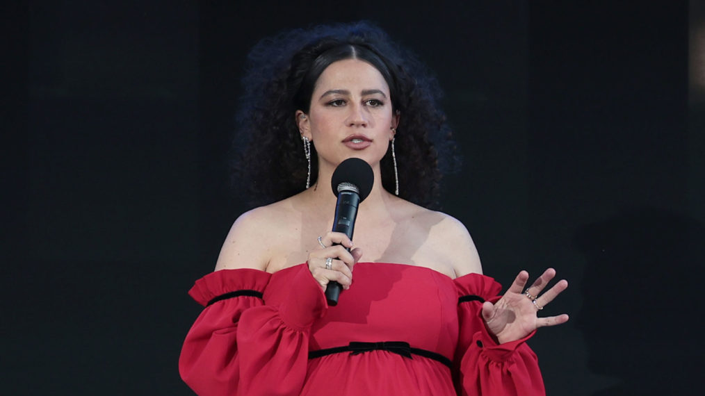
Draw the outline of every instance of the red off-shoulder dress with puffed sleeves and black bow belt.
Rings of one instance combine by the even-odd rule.
[[[305,264],[216,271],[189,292],[207,307],[180,374],[204,396],[544,395],[526,339],[498,345],[484,326],[482,302],[500,290],[478,274],[358,263],[329,307]]]

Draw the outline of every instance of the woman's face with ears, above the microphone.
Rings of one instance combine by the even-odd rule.
[[[321,170],[353,156],[379,167],[398,123],[384,77],[358,59],[331,63],[316,82],[309,113],[297,111],[296,119]]]

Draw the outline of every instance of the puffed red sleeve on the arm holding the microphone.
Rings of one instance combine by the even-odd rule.
[[[186,335],[179,371],[198,395],[300,393],[309,331],[327,305],[305,264],[280,273],[221,270],[192,287],[206,308]]]

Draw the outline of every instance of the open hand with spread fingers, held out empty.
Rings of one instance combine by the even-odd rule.
[[[556,276],[556,270],[548,268],[531,287],[524,290],[529,273],[521,271],[498,302],[482,304],[482,317],[500,344],[525,338],[539,327],[556,326],[568,321],[567,314],[546,318],[539,318],[537,315],[546,304],[568,287],[568,281],[563,279],[541,294],[553,276]]]

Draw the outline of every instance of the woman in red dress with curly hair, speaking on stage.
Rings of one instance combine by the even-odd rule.
[[[449,142],[419,63],[366,23],[289,32],[250,63],[243,180],[281,200],[240,216],[190,291],[207,308],[182,378],[200,395],[543,394],[525,340],[568,320],[537,316],[568,283],[546,290],[548,269],[524,291],[522,271],[498,297],[465,227],[418,205],[434,203]],[[374,172],[354,244],[328,231],[329,180],[350,157]]]

